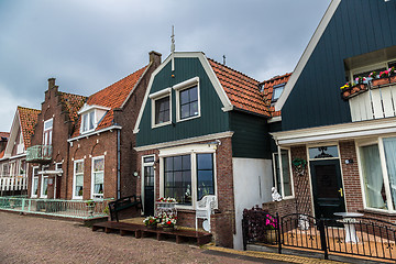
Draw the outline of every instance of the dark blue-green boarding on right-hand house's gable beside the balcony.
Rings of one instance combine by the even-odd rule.
[[[342,0],[282,109],[283,130],[351,122],[343,59],[396,45],[395,25],[395,0]]]

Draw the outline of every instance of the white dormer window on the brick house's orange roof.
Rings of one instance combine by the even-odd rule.
[[[82,134],[95,131],[100,123],[100,120],[109,110],[110,108],[102,106],[84,105],[84,107],[78,111],[78,114],[81,116],[80,133]]]

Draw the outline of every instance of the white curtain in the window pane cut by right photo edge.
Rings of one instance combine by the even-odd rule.
[[[396,201],[396,138],[384,139],[386,168],[389,177],[392,200]]]

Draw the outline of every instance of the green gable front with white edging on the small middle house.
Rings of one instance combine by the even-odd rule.
[[[172,69],[175,70],[172,70]],[[201,116],[176,122],[176,91],[173,87],[186,80],[199,79]],[[172,124],[152,129],[150,95],[170,89]],[[232,105],[201,53],[174,54],[153,73],[134,132],[136,145],[150,145],[200,135],[226,132],[229,129],[227,111]]]

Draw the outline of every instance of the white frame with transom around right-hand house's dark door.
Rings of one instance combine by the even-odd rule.
[[[311,147],[319,147],[319,146],[337,146],[337,151],[338,151],[338,157],[330,157],[330,158],[309,158],[309,148]],[[342,190],[344,193],[344,197],[345,197],[345,186],[344,186],[344,177],[343,177],[343,172],[342,172],[342,162],[341,162],[341,153],[340,153],[340,144],[339,142],[322,142],[322,143],[315,143],[315,144],[306,144],[306,157],[307,157],[307,170],[308,170],[308,180],[309,180],[309,188],[310,188],[310,198],[311,198],[311,212],[314,217],[318,217],[316,216],[315,212],[315,201],[314,201],[314,186],[312,186],[312,175],[311,175],[311,170],[310,170],[310,163],[311,162],[316,162],[316,161],[329,161],[329,160],[338,160],[340,163],[340,173],[341,173],[341,185],[342,185]],[[345,211],[348,212],[348,207],[346,207],[346,198],[344,198],[344,204],[345,204]]]

